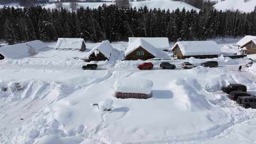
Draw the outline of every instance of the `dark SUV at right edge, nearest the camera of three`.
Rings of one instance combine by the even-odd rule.
[[[237,103],[245,108],[256,108],[256,97],[255,96],[238,97]]]

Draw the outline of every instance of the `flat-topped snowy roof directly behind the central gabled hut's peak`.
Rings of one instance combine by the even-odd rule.
[[[133,44],[137,39],[143,39],[157,49],[168,50],[170,48],[167,37],[129,37],[128,45]]]

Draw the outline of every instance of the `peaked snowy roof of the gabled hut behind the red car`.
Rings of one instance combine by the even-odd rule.
[[[132,53],[134,50],[136,50],[140,46],[143,47],[148,53],[150,53],[150,54],[154,55],[155,57],[157,57],[156,48],[153,45],[151,45],[148,42],[146,42],[142,38],[137,38],[136,41],[133,41],[133,43],[130,43],[130,41],[129,41],[128,47],[125,50],[125,56],[127,56],[130,53]]]

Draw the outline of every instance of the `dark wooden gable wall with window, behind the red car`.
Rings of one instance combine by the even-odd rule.
[[[144,52],[144,54],[142,55],[138,55],[137,51],[139,52]],[[141,54],[141,53],[140,53]],[[134,50],[133,52],[131,52],[130,54],[128,54],[125,59],[126,60],[148,60],[148,59],[152,59],[155,58],[155,56],[153,54],[150,54],[149,52],[147,52],[143,47],[138,47],[136,50]]]

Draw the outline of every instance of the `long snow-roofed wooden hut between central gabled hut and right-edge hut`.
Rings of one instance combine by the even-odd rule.
[[[214,58],[221,53],[220,46],[214,41],[180,41],[171,49],[173,56],[183,58]]]

